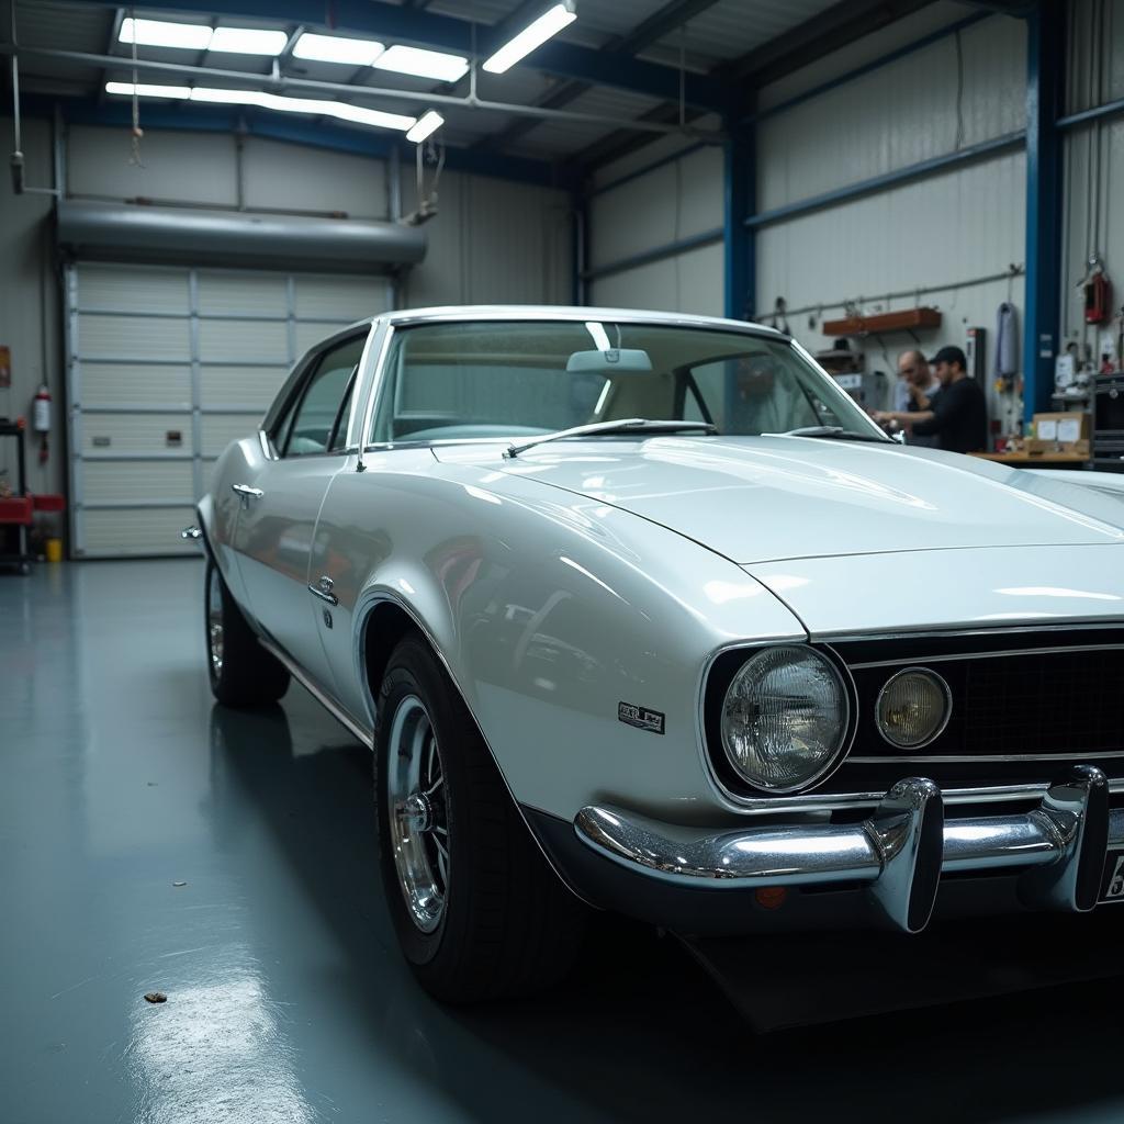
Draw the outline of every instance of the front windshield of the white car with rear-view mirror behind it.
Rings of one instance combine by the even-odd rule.
[[[785,341],[679,325],[488,320],[395,332],[368,442],[529,437],[624,418],[708,422],[724,435],[878,434]]]

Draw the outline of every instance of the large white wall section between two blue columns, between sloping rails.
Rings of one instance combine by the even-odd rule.
[[[1026,30],[995,17],[763,121],[758,208],[771,210],[1021,129]]]

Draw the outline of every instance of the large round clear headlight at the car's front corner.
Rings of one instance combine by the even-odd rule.
[[[847,694],[810,647],[767,647],[734,676],[722,706],[722,744],[755,788],[790,792],[822,777],[847,729]]]

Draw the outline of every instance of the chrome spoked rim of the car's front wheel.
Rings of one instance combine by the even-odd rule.
[[[387,801],[390,845],[406,907],[423,933],[441,924],[448,895],[448,816],[437,736],[416,695],[390,727]]]

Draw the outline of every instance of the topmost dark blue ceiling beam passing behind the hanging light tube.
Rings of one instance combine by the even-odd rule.
[[[102,3],[105,0],[94,2]],[[105,2],[105,6],[117,4]],[[224,18],[242,17],[317,27],[325,26],[325,15],[330,12],[333,28],[341,31],[462,55],[472,51],[473,25],[469,20],[439,16],[416,7],[372,3],[371,0],[332,0],[327,7],[320,0],[145,0],[144,7],[146,11],[207,12]],[[477,26],[477,46],[482,57],[487,57],[493,46],[500,45],[493,44],[491,34],[491,28]],[[673,66],[609,55],[558,38],[538,47],[525,65],[561,78],[631,90],[647,97],[679,97],[679,71]],[[723,102],[722,84],[706,75],[688,75],[685,94],[691,105],[707,108]]]

